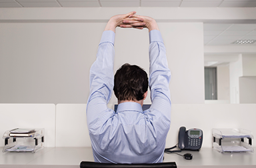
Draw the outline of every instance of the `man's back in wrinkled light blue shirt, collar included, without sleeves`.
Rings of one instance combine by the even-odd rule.
[[[127,109],[127,107],[129,107]],[[155,109],[142,111],[138,103],[121,103],[117,113],[104,123],[103,127],[90,131],[95,161],[104,163],[159,163],[163,160],[165,139],[169,130],[162,116],[151,123],[146,113],[159,114]],[[95,123],[97,125],[97,123]]]

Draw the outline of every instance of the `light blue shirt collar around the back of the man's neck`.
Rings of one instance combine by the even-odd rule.
[[[137,112],[143,113],[141,105],[135,102],[120,103],[117,106],[117,113],[120,113],[123,111],[137,111]]]

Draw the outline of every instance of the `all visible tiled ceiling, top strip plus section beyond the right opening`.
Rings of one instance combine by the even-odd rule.
[[[0,7],[256,7],[256,0],[0,0]],[[256,40],[256,24],[204,24],[205,45],[237,39]]]

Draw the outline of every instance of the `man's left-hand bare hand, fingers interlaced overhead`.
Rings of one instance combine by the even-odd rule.
[[[143,19],[140,17],[131,17],[131,15],[134,15],[136,12],[132,11],[130,13],[124,14],[124,15],[115,15],[111,17],[105,27],[106,30],[111,30],[115,32],[116,27],[142,27],[145,26],[145,23],[143,23]],[[129,21],[129,23],[123,22],[124,20]]]

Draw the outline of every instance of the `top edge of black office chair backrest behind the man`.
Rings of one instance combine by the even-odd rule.
[[[91,161],[82,161],[80,163],[80,168],[177,168],[175,162],[165,162],[165,163],[143,163],[143,164],[115,164],[115,163],[97,163]]]

